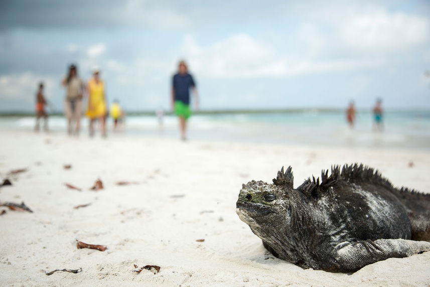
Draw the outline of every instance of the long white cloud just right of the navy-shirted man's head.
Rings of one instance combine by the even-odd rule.
[[[322,44],[323,45],[323,44]],[[382,60],[327,59],[288,57],[277,54],[267,45],[249,35],[234,35],[210,46],[199,46],[187,36],[183,52],[190,62],[190,69],[200,75],[214,78],[280,77],[309,73],[346,71],[375,67]]]

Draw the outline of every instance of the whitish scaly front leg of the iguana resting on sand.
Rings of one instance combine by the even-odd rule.
[[[334,251],[334,260],[323,269],[335,272],[356,271],[388,258],[402,258],[430,250],[430,242],[405,239],[377,239],[343,242]]]

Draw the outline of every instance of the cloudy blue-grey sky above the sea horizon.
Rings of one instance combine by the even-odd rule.
[[[430,2],[0,1],[0,111],[57,110],[69,64],[108,101],[170,109],[184,59],[201,109],[430,109]]]

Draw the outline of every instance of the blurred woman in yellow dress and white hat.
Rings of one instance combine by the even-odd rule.
[[[88,107],[87,113],[90,120],[90,136],[94,135],[94,122],[99,121],[101,135],[106,137],[106,95],[104,83],[100,79],[100,69],[93,68],[93,76],[88,81]]]

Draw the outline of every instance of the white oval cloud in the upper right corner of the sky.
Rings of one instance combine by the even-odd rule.
[[[339,32],[350,49],[364,50],[411,48],[425,43],[430,33],[427,19],[385,11],[354,16]]]

